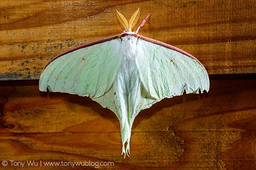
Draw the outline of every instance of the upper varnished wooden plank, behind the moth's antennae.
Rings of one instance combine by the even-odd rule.
[[[46,63],[71,47],[120,34],[116,9],[140,7],[139,34],[195,56],[209,74],[256,72],[254,0],[2,0],[0,80],[39,79]]]

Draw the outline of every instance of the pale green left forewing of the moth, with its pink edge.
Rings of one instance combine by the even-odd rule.
[[[74,47],[46,65],[39,89],[97,98],[111,87],[120,65],[117,36]]]

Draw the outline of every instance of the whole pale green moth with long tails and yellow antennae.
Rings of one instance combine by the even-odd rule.
[[[120,121],[122,154],[130,154],[134,118],[164,98],[209,90],[204,66],[191,54],[133,32],[139,9],[128,21],[117,11],[121,34],[79,45],[50,60],[39,89],[89,96]],[[149,16],[149,15],[148,15]],[[147,17],[148,17],[147,16]],[[127,143],[125,147],[125,143]]]

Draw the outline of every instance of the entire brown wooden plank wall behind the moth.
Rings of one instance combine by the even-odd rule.
[[[40,92],[46,63],[71,47],[122,32],[117,9],[140,7],[139,34],[195,56],[210,91],[163,99],[134,120],[130,158],[117,117],[87,97]],[[114,162],[106,169],[256,169],[254,0],[2,0],[0,169],[16,162]],[[241,73],[241,74],[237,74]],[[28,166],[87,169],[95,166]]]

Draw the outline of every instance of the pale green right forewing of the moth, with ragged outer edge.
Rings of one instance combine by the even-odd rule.
[[[193,56],[171,45],[140,36],[136,65],[141,81],[156,99],[209,90],[204,66]]]

